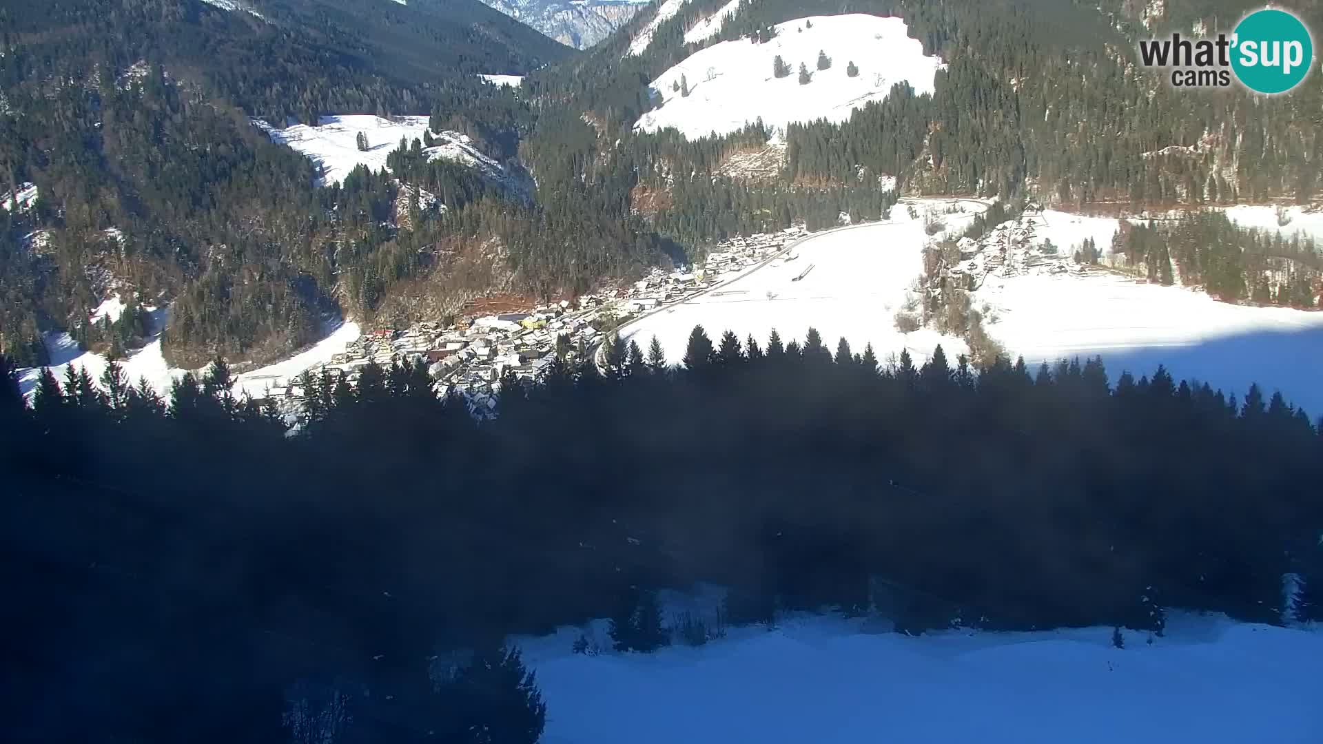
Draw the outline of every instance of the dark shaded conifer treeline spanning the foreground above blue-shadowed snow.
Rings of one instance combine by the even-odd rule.
[[[507,376],[483,424],[417,368],[310,377],[292,437],[224,363],[168,402],[115,367],[46,376],[30,408],[7,368],[11,731],[273,739],[308,684],[369,691],[351,727],[429,731],[455,715],[426,682],[451,651],[598,617],[655,647],[651,592],[696,581],[732,589],[730,622],[908,633],[1278,624],[1293,572],[1297,616],[1323,606],[1323,437],[1281,395],[1162,368],[1113,388],[1097,359],[880,363],[812,331],[602,357]]]

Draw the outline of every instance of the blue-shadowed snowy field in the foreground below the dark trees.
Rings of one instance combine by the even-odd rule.
[[[1167,634],[869,634],[798,618],[701,649],[572,654],[577,630],[523,639],[545,744],[1316,744],[1318,630],[1174,613]]]

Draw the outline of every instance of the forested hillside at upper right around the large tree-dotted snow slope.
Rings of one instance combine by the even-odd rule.
[[[925,53],[947,62],[937,93],[901,89],[844,124],[791,127],[786,180],[855,184],[869,180],[861,173],[885,173],[912,192],[1028,193],[1066,205],[1315,193],[1323,147],[1316,78],[1271,98],[1242,89],[1181,91],[1135,66],[1138,38],[1171,29],[1189,34],[1197,21],[1225,26],[1253,7],[1248,1],[1176,3],[1163,13],[1154,11],[1163,4],[1122,0],[1101,9],[1054,0],[766,0],[742,4],[720,33],[685,45],[684,30],[716,5],[683,5],[642,54],[623,54],[622,34],[531,83],[591,111],[607,138],[628,139],[652,106],[648,81],[704,44],[766,40],[773,24],[811,15],[894,15]],[[1323,20],[1314,17],[1316,5],[1303,11],[1307,21]],[[640,173],[660,183],[673,172],[708,172],[733,150],[726,139],[704,139],[691,150],[701,155],[646,159]]]

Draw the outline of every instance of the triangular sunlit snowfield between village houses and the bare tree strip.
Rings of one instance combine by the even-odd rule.
[[[949,229],[959,230],[984,205],[971,200],[913,200],[919,212],[938,212],[962,204],[968,210],[945,214]],[[804,238],[781,258],[728,279],[691,301],[667,306],[620,330],[647,348],[655,335],[667,359],[679,364],[696,324],[703,324],[713,343],[726,330],[753,334],[766,346],[773,328],[783,343],[803,343],[810,326],[831,351],[844,336],[852,351],[873,344],[878,359],[909,349],[916,364],[926,360],[937,344],[949,359],[967,351],[964,342],[922,328],[908,336],[896,330],[893,315],[905,302],[910,283],[922,271],[923,220],[912,220],[905,204],[892,208],[892,220],[819,233]],[[794,257],[786,259],[787,257]],[[802,279],[795,281],[806,269]],[[770,295],[770,297],[769,297]]]

